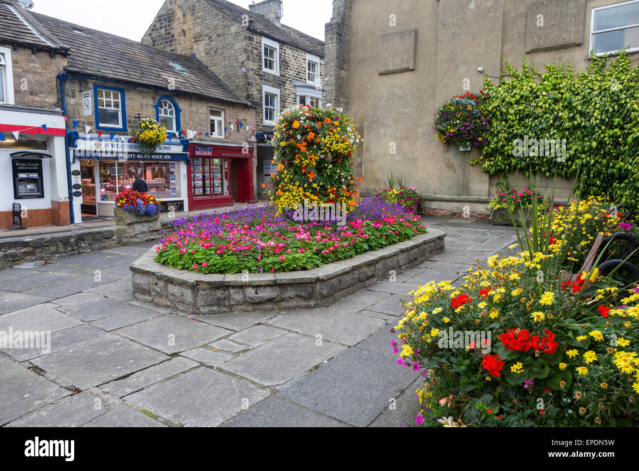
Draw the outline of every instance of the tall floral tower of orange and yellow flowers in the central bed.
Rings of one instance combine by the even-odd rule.
[[[269,189],[279,211],[305,200],[346,205],[347,212],[357,206],[361,178],[355,178],[353,152],[360,139],[341,108],[305,105],[282,112],[273,133],[277,169]]]

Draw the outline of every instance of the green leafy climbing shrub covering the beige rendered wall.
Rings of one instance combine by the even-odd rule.
[[[506,63],[504,75],[484,93],[491,130],[481,157],[491,175],[520,170],[569,179],[581,169],[583,194],[609,196],[639,207],[639,67],[624,52],[592,58],[587,72],[570,63]]]

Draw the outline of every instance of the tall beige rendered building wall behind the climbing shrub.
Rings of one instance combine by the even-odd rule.
[[[521,66],[524,56],[541,70],[569,60],[585,70],[591,49],[629,47],[636,60],[638,24],[638,0],[334,0],[325,100],[343,106],[364,137],[356,163],[364,190],[399,171],[427,212],[485,214],[498,177],[468,164],[477,150],[437,141],[433,112],[479,91],[484,73],[497,82],[505,61]],[[569,182],[558,187],[567,196]]]

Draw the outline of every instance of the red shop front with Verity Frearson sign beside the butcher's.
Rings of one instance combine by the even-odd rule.
[[[253,203],[253,155],[242,147],[189,144],[189,210]]]

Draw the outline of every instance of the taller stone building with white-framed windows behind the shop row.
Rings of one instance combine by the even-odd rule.
[[[272,172],[267,139],[279,112],[325,101],[324,43],[281,18],[282,0],[254,3],[249,10],[224,0],[166,0],[142,38],[153,47],[195,54],[258,108],[258,190]]]

